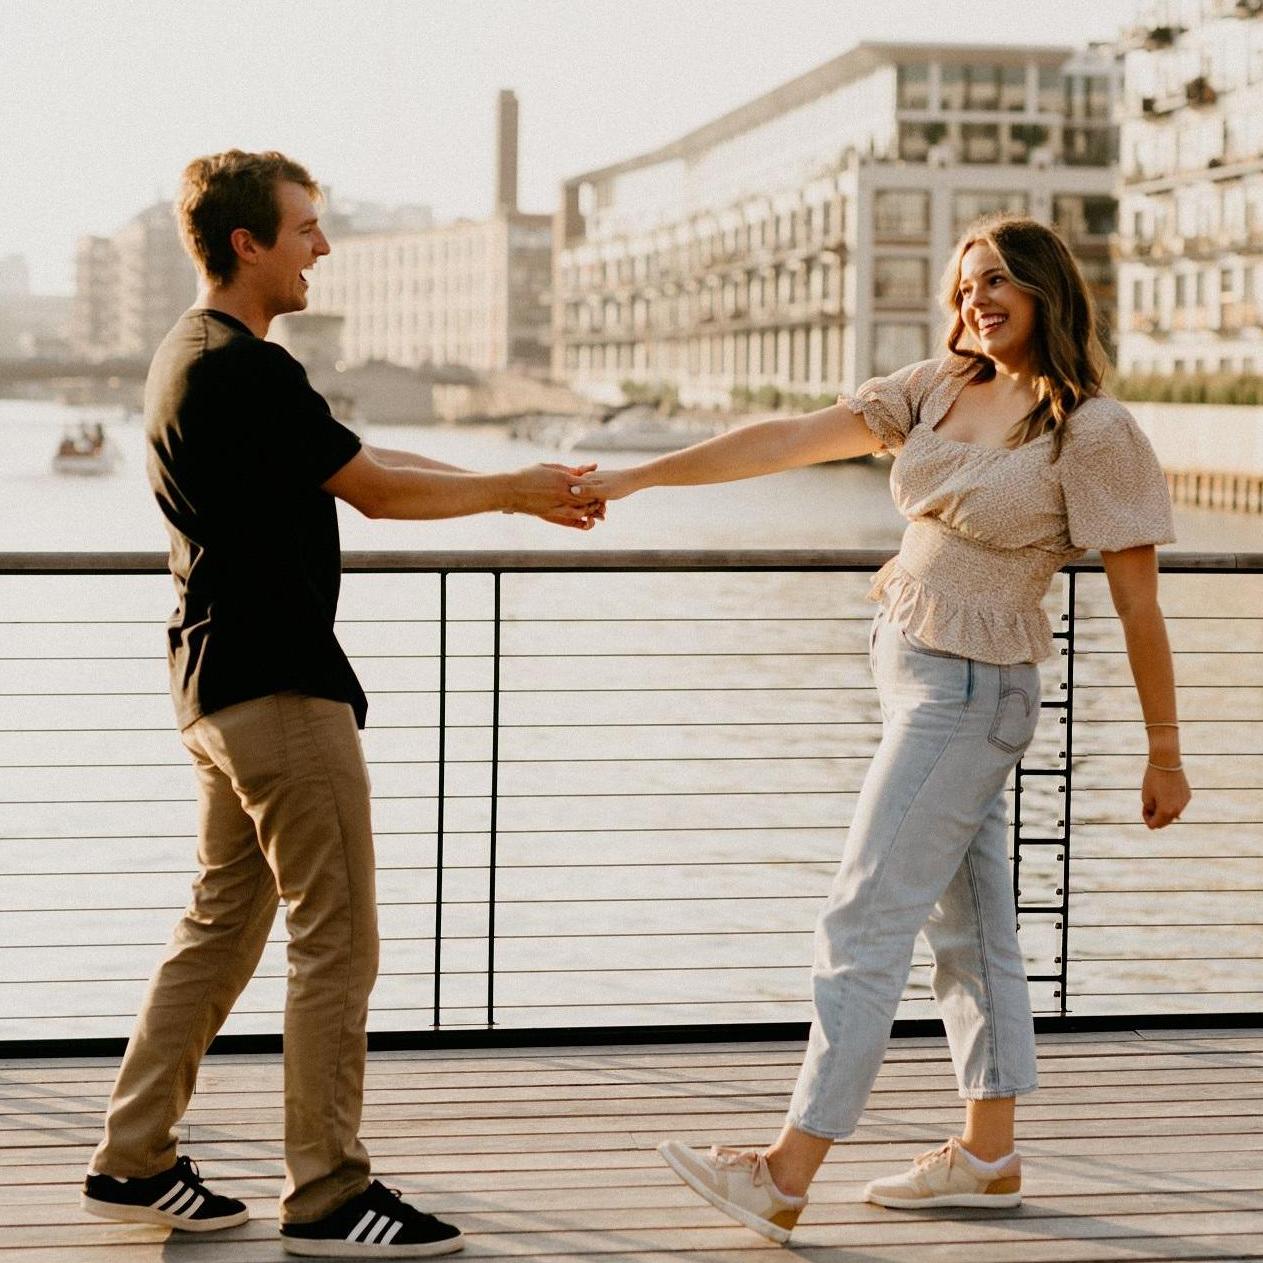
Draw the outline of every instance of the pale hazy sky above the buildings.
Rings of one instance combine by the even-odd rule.
[[[493,196],[495,93],[520,203],[662,144],[860,39],[1084,43],[1135,0],[0,0],[0,256],[68,293],[73,249],[193,155],[278,148],[354,198],[442,218]]]

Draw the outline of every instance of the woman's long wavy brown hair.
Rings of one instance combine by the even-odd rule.
[[[960,269],[971,246],[986,244],[1000,256],[1005,275],[1036,301],[1036,402],[1008,434],[1010,447],[1052,433],[1052,458],[1061,455],[1066,418],[1100,392],[1108,369],[1096,331],[1096,311],[1084,274],[1066,242],[1047,225],[1022,215],[975,220],[956,242],[943,272],[942,299],[951,313],[947,350],[979,365],[976,380],[995,376],[995,365],[971,341],[960,313]]]

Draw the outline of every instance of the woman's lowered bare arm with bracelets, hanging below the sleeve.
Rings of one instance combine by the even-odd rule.
[[[1123,623],[1148,738],[1140,817],[1149,829],[1162,829],[1180,816],[1192,794],[1181,770],[1175,668],[1166,620],[1158,606],[1157,551],[1144,544],[1103,552],[1101,560],[1114,609]]]

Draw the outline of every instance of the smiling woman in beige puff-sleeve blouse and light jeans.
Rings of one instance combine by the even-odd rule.
[[[816,932],[815,1018],[784,1128],[765,1152],[668,1140],[707,1201],[787,1240],[834,1140],[854,1130],[880,1068],[922,928],[966,1101],[961,1137],[874,1181],[888,1206],[1013,1206],[1014,1099],[1036,1086],[1034,1036],[1005,844],[1004,787],[1034,734],[1039,601],[1099,548],[1148,735],[1140,815],[1188,802],[1154,544],[1175,536],[1166,484],[1132,416],[1100,390],[1105,356],[1070,251],[1033,220],[979,221],[945,275],[947,355],[865,383],[801,418],[746,426],[585,477],[608,500],[649,486],[894,453],[908,519],[879,602],[870,662],[883,736]]]

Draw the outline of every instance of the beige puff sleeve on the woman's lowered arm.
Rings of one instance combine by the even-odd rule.
[[[1118,552],[1171,543],[1171,496],[1153,446],[1120,403],[1096,403],[1084,424],[1070,419],[1057,462],[1071,544]]]

